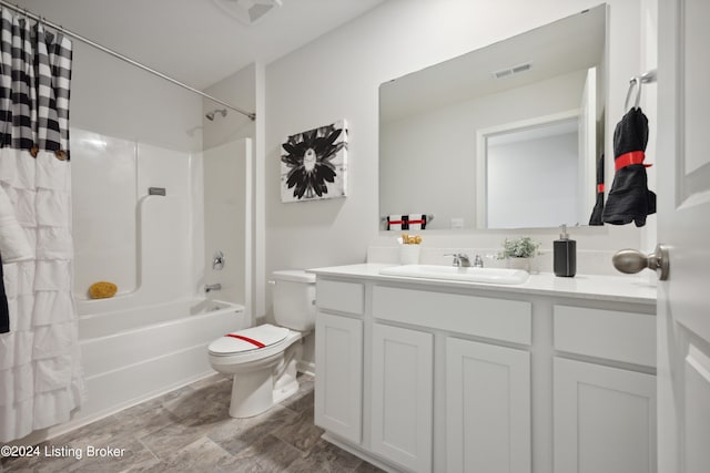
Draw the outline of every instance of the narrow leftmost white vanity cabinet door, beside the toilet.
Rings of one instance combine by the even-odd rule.
[[[315,325],[315,423],[359,443],[363,420],[363,321],[318,312]]]

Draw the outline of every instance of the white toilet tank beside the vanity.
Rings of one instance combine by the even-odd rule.
[[[274,319],[281,327],[308,331],[315,327],[315,275],[302,269],[273,273]]]

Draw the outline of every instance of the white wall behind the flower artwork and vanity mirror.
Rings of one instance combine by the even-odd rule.
[[[381,83],[546,24],[598,0],[392,0],[266,68],[266,270],[363,261],[378,237],[378,103]],[[610,0],[607,156],[622,115],[628,80],[640,63],[638,0]],[[280,144],[290,134],[346,119],[351,130],[349,195],[282,204]],[[608,160],[609,162],[610,160]],[[611,182],[611,171],[607,182]],[[557,230],[530,232],[551,248]],[[427,234],[430,235],[430,234]],[[638,247],[632,227],[572,232],[578,248]],[[499,247],[505,234],[446,233],[426,245]],[[605,263],[607,265],[607,263]],[[257,280],[263,285],[264,281]]]

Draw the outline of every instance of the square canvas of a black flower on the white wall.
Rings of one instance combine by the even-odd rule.
[[[281,147],[281,202],[346,196],[345,120],[291,135]]]

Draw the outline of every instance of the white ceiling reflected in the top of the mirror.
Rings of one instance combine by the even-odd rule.
[[[381,121],[521,88],[604,63],[606,8],[571,17],[490,44],[384,84]],[[494,72],[521,64],[530,69],[495,79]]]

